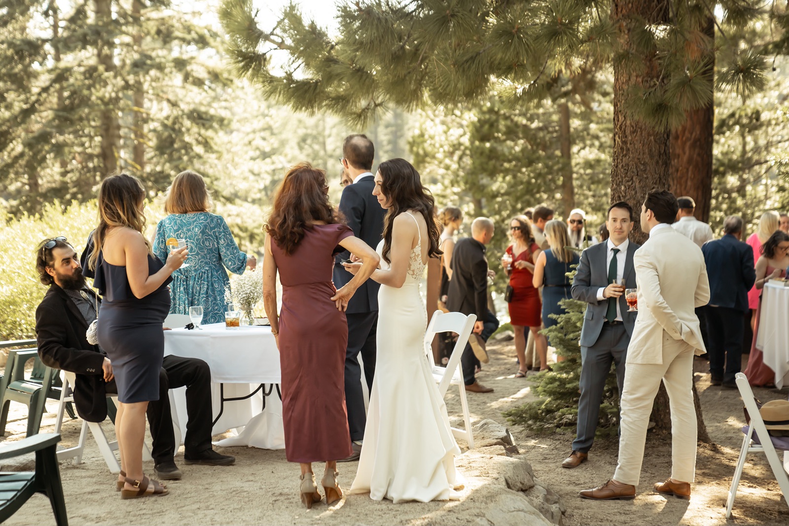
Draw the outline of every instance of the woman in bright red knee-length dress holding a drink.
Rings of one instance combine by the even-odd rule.
[[[544,335],[538,334],[542,325],[542,302],[540,291],[532,284],[534,263],[542,251],[534,242],[529,219],[525,215],[518,215],[510,220],[510,239],[512,244],[507,247],[507,256],[502,262],[502,267],[509,269],[510,286],[513,289],[512,299],[509,303],[510,323],[515,333],[515,353],[518,353],[518,373],[516,378],[524,378],[526,371],[522,369],[526,363],[526,334],[525,327],[529,327],[534,337],[534,345],[540,356],[540,371],[548,368],[548,341]]]

